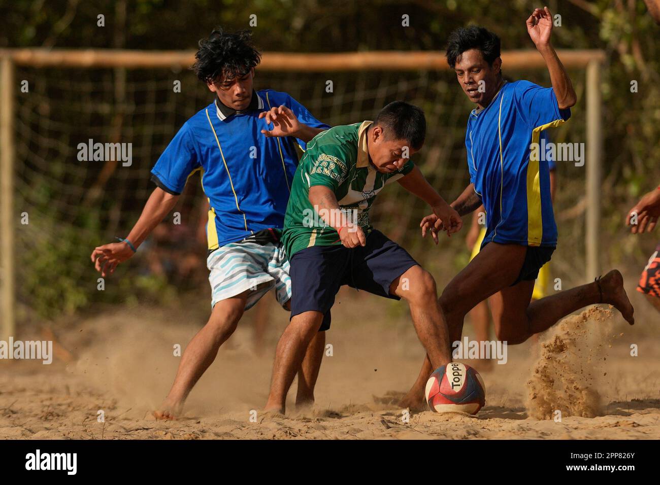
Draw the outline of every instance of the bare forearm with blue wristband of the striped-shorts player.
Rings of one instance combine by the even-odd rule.
[[[167,193],[160,187],[151,193],[142,210],[140,218],[127,236],[135,249],[141,245],[158,223],[174,209],[179,195]],[[119,263],[123,263],[133,255],[133,249],[125,242],[109,243],[97,246],[92,251],[92,263],[101,276],[112,275]]]

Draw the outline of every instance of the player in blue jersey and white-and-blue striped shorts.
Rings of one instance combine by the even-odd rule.
[[[92,261],[102,276],[129,259],[176,205],[189,176],[201,172],[209,199],[207,267],[213,299],[211,317],[183,352],[170,393],[154,411],[158,419],[176,418],[220,345],[244,311],[275,288],[290,309],[289,263],[279,240],[292,179],[298,166],[296,143],[329,126],[284,92],[253,90],[261,54],[247,30],[230,34],[218,28],[199,42],[193,66],[214,100],[181,127],[151,171],[156,189],[125,240],[96,247]],[[298,373],[296,403],[314,401],[325,333],[308,347]]]

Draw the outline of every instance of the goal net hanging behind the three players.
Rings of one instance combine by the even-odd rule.
[[[511,79],[550,85],[544,69],[506,61],[504,67]],[[581,67],[571,69],[580,98],[584,73]],[[174,214],[112,277],[98,280],[90,253],[128,234],[155,187],[150,169],[185,120],[214,94],[185,67],[126,67],[121,62],[103,67],[15,63],[13,85],[17,319],[53,317],[95,302],[158,302],[207,285],[207,199],[199,176],[189,179]],[[255,88],[288,92],[330,125],[373,119],[393,100],[416,104],[426,113],[428,127],[424,148],[413,157],[422,173],[448,202],[469,183],[464,139],[473,105],[447,69],[317,72],[269,63],[268,69],[257,69]],[[569,123],[550,133],[556,143],[583,143],[586,137],[584,102],[574,108]],[[84,160],[80,146],[90,141],[130,144],[131,163],[121,156]],[[560,245],[552,258],[552,278],[582,282],[585,166],[568,161],[557,167]],[[436,247],[420,238],[418,224],[426,214],[422,201],[395,184],[378,197],[372,221],[426,265],[442,288],[468,261],[470,217],[463,232]]]

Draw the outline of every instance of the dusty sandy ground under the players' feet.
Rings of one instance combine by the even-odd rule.
[[[403,303],[343,289],[314,409],[296,411],[290,402],[286,418],[273,419],[260,409],[288,317],[269,302],[265,350],[255,352],[256,311],[249,312],[175,422],[156,422],[150,410],[174,378],[174,346],[185,348],[207,307],[108,311],[55,332],[72,362],[0,362],[0,439],[658,439],[660,318],[634,298],[643,309],[635,327],[592,307],[540,343],[511,346],[504,365],[469,361],[486,383],[477,416],[425,411],[408,420],[395,398],[411,385],[423,352]],[[368,323],[358,323],[362,312]]]

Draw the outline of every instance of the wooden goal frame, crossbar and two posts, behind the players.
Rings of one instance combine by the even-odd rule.
[[[16,194],[16,168],[23,160],[17,160],[16,141],[22,143],[22,137],[18,137],[18,125],[16,123],[17,110],[20,106],[16,104],[16,97],[20,93],[20,82],[16,75],[17,69],[170,69],[182,71],[190,67],[195,61],[195,51],[139,51],[121,49],[44,49],[44,48],[20,48],[0,49],[0,339],[6,339],[15,334],[15,311],[16,298],[15,276],[16,267],[16,234],[20,213],[23,208],[15,203],[13,197]],[[603,157],[603,135],[602,135],[602,96],[601,96],[601,71],[605,61],[605,53],[598,49],[559,50],[558,55],[567,69],[579,70],[585,73],[584,90],[586,91],[585,102],[585,281],[592,280],[599,274],[599,232],[601,219],[601,162]],[[512,71],[539,71],[545,69],[545,63],[541,55],[535,50],[510,50],[502,52],[502,62],[506,69]],[[259,65],[259,72],[269,73],[300,73],[300,82],[303,82],[306,73],[351,73],[351,72],[385,72],[401,73],[399,76],[405,81],[413,72],[426,71],[448,71],[444,52],[441,51],[360,51],[343,53],[263,53],[263,59]],[[408,74],[406,74],[406,72]],[[48,79],[46,81],[48,82]],[[402,81],[403,82],[403,81]],[[92,82],[89,83],[90,85]],[[401,84],[401,82],[399,82]],[[107,90],[114,86],[108,84]],[[125,86],[124,86],[125,88]],[[391,89],[390,89],[391,88]],[[373,99],[369,101],[372,105],[374,100],[381,100],[377,96],[389,96],[392,89],[397,86],[384,86],[382,89],[374,89]],[[90,88],[94,89],[94,88]],[[147,89],[147,88],[145,88]],[[381,93],[382,91],[382,93]],[[385,94],[383,94],[385,93]],[[44,96],[46,96],[44,94]],[[449,94],[452,98],[459,98]],[[144,96],[149,98],[149,96]],[[361,102],[367,96],[360,98]],[[438,102],[440,96],[430,102]],[[364,104],[364,103],[362,103]],[[198,107],[195,107],[198,109]],[[333,105],[335,113],[340,113],[342,105],[337,102]],[[371,106],[370,110],[373,110]],[[48,117],[48,110],[44,116]],[[192,114],[195,110],[189,110]],[[345,114],[356,113],[353,110]],[[361,112],[360,112],[361,113]],[[319,117],[325,116],[323,112],[317,113]],[[342,119],[335,115],[335,119]],[[357,119],[346,119],[346,122],[358,121]],[[121,122],[117,130],[121,131]],[[172,133],[173,135],[174,133]],[[43,140],[48,135],[39,133]],[[460,135],[456,134],[456,137]],[[455,137],[455,139],[457,139]],[[22,145],[21,145],[22,146]],[[442,154],[438,148],[436,153]],[[46,157],[44,157],[46,158]],[[155,162],[155,160],[151,160]],[[44,162],[45,163],[45,162]],[[436,164],[436,167],[438,165]],[[467,172],[465,170],[464,172]]]

